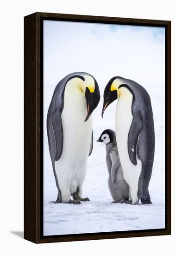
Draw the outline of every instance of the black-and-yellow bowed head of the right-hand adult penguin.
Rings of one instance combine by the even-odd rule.
[[[119,97],[119,86],[123,83],[122,77],[120,76],[114,76],[109,80],[109,82],[106,85],[106,88],[104,90],[103,94],[103,109],[101,116],[103,118],[103,114],[105,112],[105,109],[117,98]]]

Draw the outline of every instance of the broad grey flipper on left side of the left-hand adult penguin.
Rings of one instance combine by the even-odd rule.
[[[52,114],[52,128],[56,144],[55,161],[58,161],[63,152],[63,124],[61,118],[61,111],[59,108],[56,108],[54,113]]]

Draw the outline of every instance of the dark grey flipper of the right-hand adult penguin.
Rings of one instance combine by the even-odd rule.
[[[131,127],[128,133],[128,154],[134,165],[137,165],[137,143],[142,129],[143,117],[141,111],[134,111]]]

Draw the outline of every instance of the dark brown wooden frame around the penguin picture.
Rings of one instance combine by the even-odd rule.
[[[166,199],[165,229],[121,231],[109,233],[42,236],[43,227],[43,20],[65,20],[137,26],[165,27],[166,33]],[[24,18],[24,97],[25,97],[25,153],[24,153],[24,238],[34,243],[109,239],[134,236],[160,236],[171,233],[171,22],[99,17],[57,13],[33,13]]]

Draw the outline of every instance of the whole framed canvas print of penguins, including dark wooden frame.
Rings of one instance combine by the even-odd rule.
[[[170,235],[170,26],[24,18],[25,239]]]

